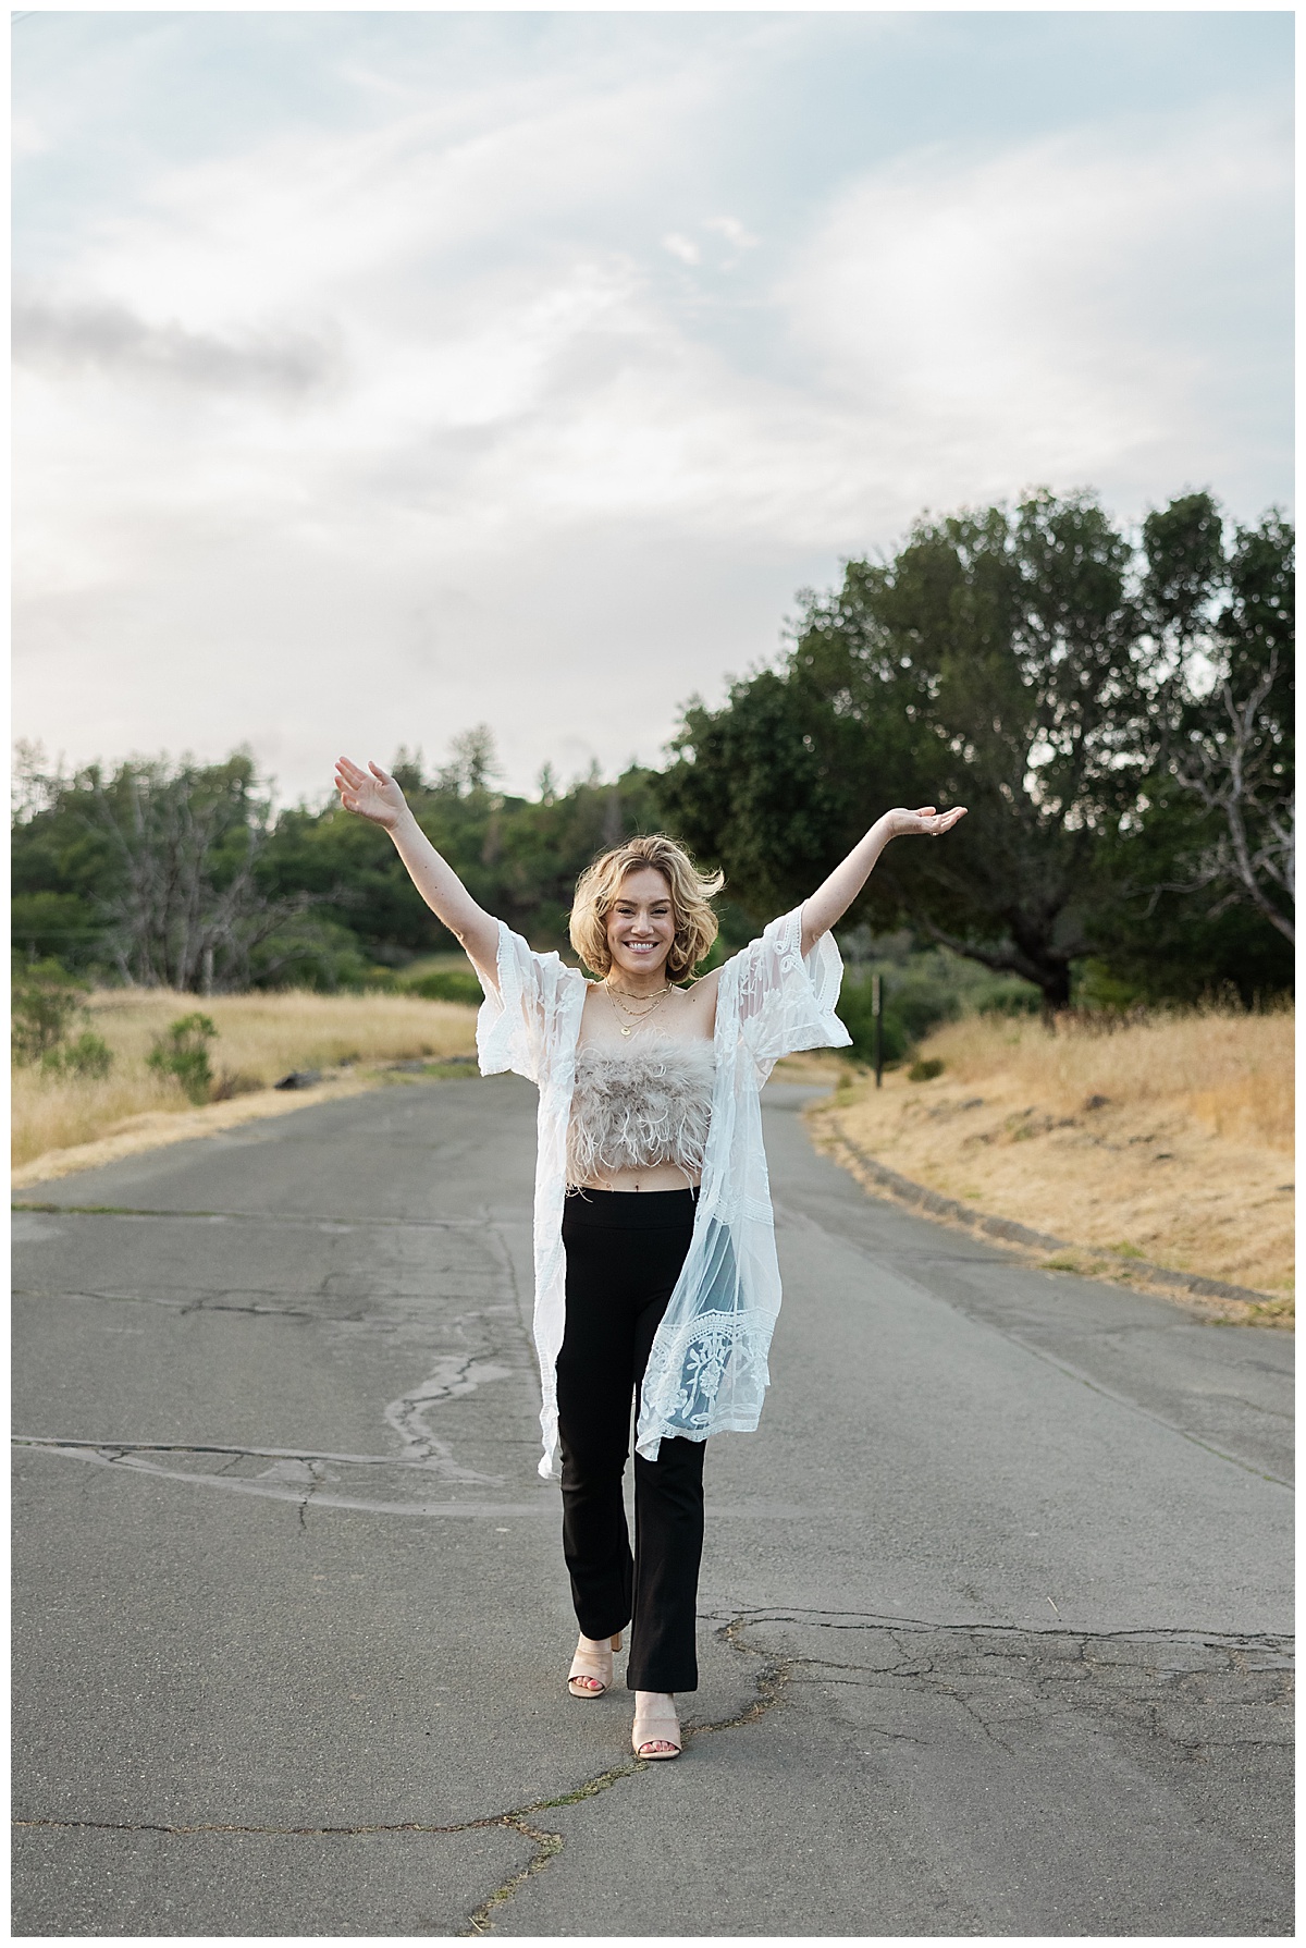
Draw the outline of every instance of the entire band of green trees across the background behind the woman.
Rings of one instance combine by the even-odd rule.
[[[471,892],[564,947],[570,892],[631,832],[728,877],[722,949],[800,900],[888,805],[969,806],[895,845],[849,929],[903,929],[1065,1007],[1086,966],[1144,999],[1292,980],[1292,530],[1187,493],[1125,532],[1094,495],[921,518],[806,592],[786,653],[662,771],[496,789],[487,727],[418,822]],[[14,947],[197,993],[364,986],[453,943],[389,840],[333,803],[272,810],[247,754],[53,775],[19,750]]]

